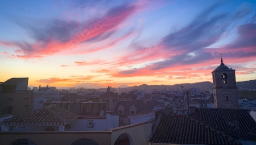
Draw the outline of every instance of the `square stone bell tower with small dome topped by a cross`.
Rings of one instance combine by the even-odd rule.
[[[236,70],[221,64],[212,72],[214,107],[239,109]]]

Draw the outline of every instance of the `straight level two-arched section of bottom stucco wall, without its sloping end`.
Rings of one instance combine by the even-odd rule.
[[[89,138],[99,145],[111,144],[111,132],[77,132],[77,131],[56,131],[56,132],[0,132],[0,144],[10,144],[16,139],[30,139],[37,145],[71,145],[78,139]]]

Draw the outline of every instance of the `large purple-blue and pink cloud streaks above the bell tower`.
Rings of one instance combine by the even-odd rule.
[[[188,73],[204,72],[204,69],[193,71],[196,67],[208,67],[209,64],[218,64],[220,53],[224,53],[225,61],[234,63],[241,60],[245,63],[255,60],[256,57],[256,24],[253,19],[250,23],[237,27],[238,38],[221,48],[208,48],[217,43],[227,29],[237,20],[250,14],[247,6],[241,6],[235,13],[215,14],[213,11],[220,3],[208,7],[191,23],[176,32],[164,36],[158,44],[150,48],[141,47],[136,43],[137,50],[119,58],[119,65],[134,65],[148,60],[160,60],[148,64],[143,68],[129,69],[112,73],[113,77],[158,76],[159,74],[173,75],[174,71],[183,70],[171,78],[191,78]],[[232,16],[233,15],[233,16]],[[155,48],[153,48],[155,47]],[[158,51],[156,51],[158,50]],[[143,52],[143,53],[141,53]],[[154,53],[153,53],[154,52]],[[234,59],[237,57],[238,59]],[[185,71],[188,69],[189,71]],[[192,71],[191,71],[192,70]],[[207,70],[211,72],[212,70]],[[169,73],[164,73],[169,72]],[[208,75],[206,75],[208,76]]]

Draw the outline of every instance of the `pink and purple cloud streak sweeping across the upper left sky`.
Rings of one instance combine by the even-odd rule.
[[[43,24],[38,22],[39,27],[35,27],[35,25],[20,21],[20,26],[30,30],[35,43],[1,41],[0,44],[16,47],[15,56],[26,59],[49,56],[66,49],[80,49],[81,46],[84,48],[89,45],[89,42],[100,42],[112,36],[117,30],[116,26],[133,14],[135,9],[135,5],[117,6],[100,18],[92,18],[82,23],[55,19]],[[101,49],[104,48],[104,46],[101,47]],[[87,47],[85,52],[98,50],[100,48],[90,50],[90,47]]]

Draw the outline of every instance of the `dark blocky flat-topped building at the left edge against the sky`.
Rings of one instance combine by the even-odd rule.
[[[33,110],[34,93],[28,78],[10,78],[0,85],[0,115],[20,115]]]

